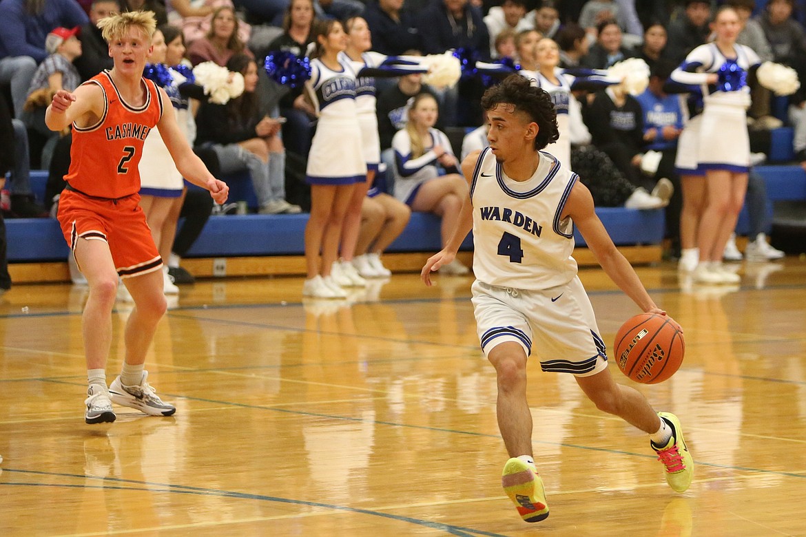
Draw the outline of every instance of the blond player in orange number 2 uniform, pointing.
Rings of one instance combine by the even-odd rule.
[[[112,401],[147,415],[172,415],[143,370],[156,325],[166,308],[162,260],[139,208],[138,163],[143,140],[157,126],[182,176],[210,191],[218,203],[229,189],[191,151],[163,89],[143,79],[156,27],[150,11],[115,14],[98,22],[111,71],[75,92],[59,91],[45,115],[51,130],[73,125],[72,161],[59,200],[59,223],[89,283],[82,317],[87,361],[86,423],[112,422]],[[167,111],[167,114],[163,112]],[[106,387],[112,308],[118,275],[135,301],[127,321],[123,371]]]

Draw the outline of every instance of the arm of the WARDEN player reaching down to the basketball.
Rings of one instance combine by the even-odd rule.
[[[571,217],[576,229],[580,230],[585,242],[588,243],[588,248],[596,257],[596,261],[621,291],[633,299],[644,312],[666,314],[655,305],[643,283],[638,279],[638,275],[635,274],[633,266],[613,244],[605,225],[596,216],[591,192],[579,180],[574,188],[571,188],[571,195],[565,204],[563,218],[565,217]]]

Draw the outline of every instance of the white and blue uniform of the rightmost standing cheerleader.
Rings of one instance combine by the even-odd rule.
[[[734,44],[733,50],[737,66],[744,71],[761,64],[753,49]],[[750,106],[750,87],[745,82],[735,91],[722,91],[713,86],[709,88],[705,82],[708,74],[719,72],[729,61],[716,43],[707,43],[690,52],[683,64],[671,73],[673,81],[702,87],[704,108],[700,114],[699,140],[696,143],[696,161],[700,170],[746,172],[750,167],[746,113]],[[678,152],[694,151],[692,143],[682,141],[685,147],[678,147]]]

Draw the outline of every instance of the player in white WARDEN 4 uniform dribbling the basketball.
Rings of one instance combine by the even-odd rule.
[[[490,147],[474,151],[462,168],[466,196],[451,241],[426,262],[422,279],[451,262],[472,229],[473,307],[481,347],[496,368],[496,413],[511,457],[506,494],[526,522],[549,515],[532,453],[532,415],[526,401],[526,359],[534,347],[544,371],[571,373],[596,407],[650,435],[672,489],[691,484],[692,456],[677,417],[656,414],[644,396],[613,381],[605,343],[571,254],[580,230],[607,275],[644,312],[665,315],[633,267],[613,245],[579,177],[542,152],[558,137],[549,94],[512,75],[484,93]]]

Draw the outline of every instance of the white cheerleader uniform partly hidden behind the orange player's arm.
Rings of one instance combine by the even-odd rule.
[[[179,85],[185,81],[185,77],[172,68],[168,68],[168,72],[173,76],[172,82],[163,89],[171,100],[182,134],[185,134],[189,143],[193,145],[193,140],[196,138],[195,122],[189,111],[189,100],[179,93]],[[140,159],[138,169],[141,195],[157,197],[182,195],[185,180],[177,170],[177,164],[173,162],[168,147],[165,147],[159,129],[150,130],[143,141],[143,158]]]

